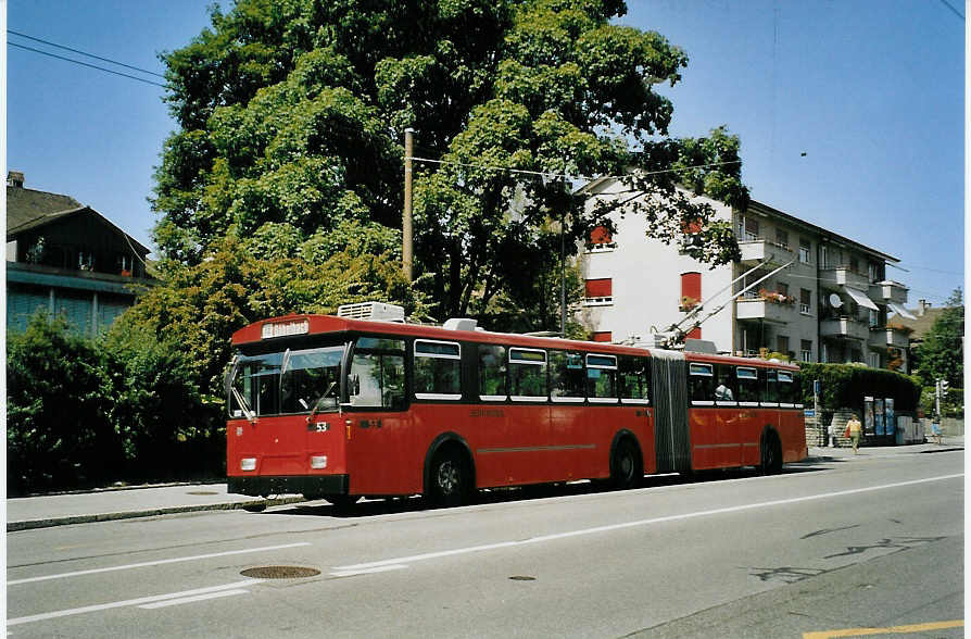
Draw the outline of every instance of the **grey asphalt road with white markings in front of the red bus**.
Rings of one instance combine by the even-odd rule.
[[[871,454],[451,510],[313,502],[11,532],[8,632],[961,637],[963,462]]]

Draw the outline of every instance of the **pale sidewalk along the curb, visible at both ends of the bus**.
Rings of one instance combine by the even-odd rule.
[[[804,463],[824,463],[847,458],[866,460],[874,456],[935,453],[963,450],[963,437],[946,437],[942,444],[866,447],[859,449],[859,454],[856,458],[849,448],[812,447],[809,449],[809,458]],[[7,500],[7,531],[193,511],[272,506],[302,501],[305,500],[299,494],[279,496],[273,499],[234,494],[227,491],[226,484],[128,487],[72,494],[11,498]]]

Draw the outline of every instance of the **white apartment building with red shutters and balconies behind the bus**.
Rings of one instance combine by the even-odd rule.
[[[609,178],[584,189],[591,206],[625,190]],[[587,299],[577,316],[594,339],[650,343],[694,310],[704,321],[689,337],[719,352],[909,372],[907,335],[887,327],[888,315],[908,314],[907,287],[886,279],[895,258],[759,202],[740,212],[704,201],[731,221],[741,262],[711,268],[681,254],[647,238],[636,213],[615,213],[610,237],[594,230],[580,256]]]

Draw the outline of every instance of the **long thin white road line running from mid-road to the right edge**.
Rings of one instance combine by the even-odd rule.
[[[887,490],[891,488],[901,488],[904,486],[916,486],[919,484],[928,484],[930,481],[943,481],[945,479],[955,479],[957,477],[963,477],[963,473],[956,473],[954,475],[941,475],[938,477],[928,477],[925,479],[913,479],[910,481],[898,481],[896,484],[884,484],[882,486],[871,486],[868,488],[853,488],[849,490],[838,490],[836,492],[824,492],[820,494],[810,494],[807,497],[794,497],[791,499],[779,499],[773,501],[762,501],[758,503],[749,503],[743,505],[728,506],[723,509],[714,509],[710,511],[697,511],[694,513],[684,513],[680,515],[669,515],[666,517],[654,517],[651,519],[638,519],[635,522],[625,522],[622,524],[610,524],[608,526],[597,526],[595,528],[583,528],[580,530],[569,530],[567,532],[557,532],[555,535],[543,535],[541,537],[530,537],[529,539],[520,539],[516,541],[501,541],[497,543],[486,543],[483,546],[471,546],[468,548],[456,548],[453,550],[442,550],[438,552],[427,552],[424,554],[415,554],[411,556],[399,556],[394,559],[381,560],[377,562],[368,562],[362,564],[353,564],[348,566],[336,566],[330,575],[332,576],[344,576],[344,575],[353,575],[361,574],[364,571],[375,572],[375,568],[381,568],[387,566],[407,566],[409,563],[427,561],[432,559],[441,559],[445,556],[453,556],[457,554],[468,554],[472,552],[481,552],[486,550],[497,550],[501,548],[513,548],[517,546],[527,546],[530,543],[541,543],[544,541],[554,541],[557,539],[567,539],[570,537],[581,537],[584,535],[594,535],[597,532],[609,532],[613,530],[621,530],[623,528],[634,528],[639,526],[648,526],[652,524],[661,524],[666,522],[677,522],[681,519],[692,519],[695,517],[707,517],[711,515],[722,515],[728,513],[737,513],[744,511],[752,511],[756,509],[766,509],[771,506],[779,505],[789,505],[794,503],[800,503],[806,501],[816,501],[820,499],[832,499],[836,497],[846,497],[849,494],[860,494],[865,492],[873,492],[877,490]]]

